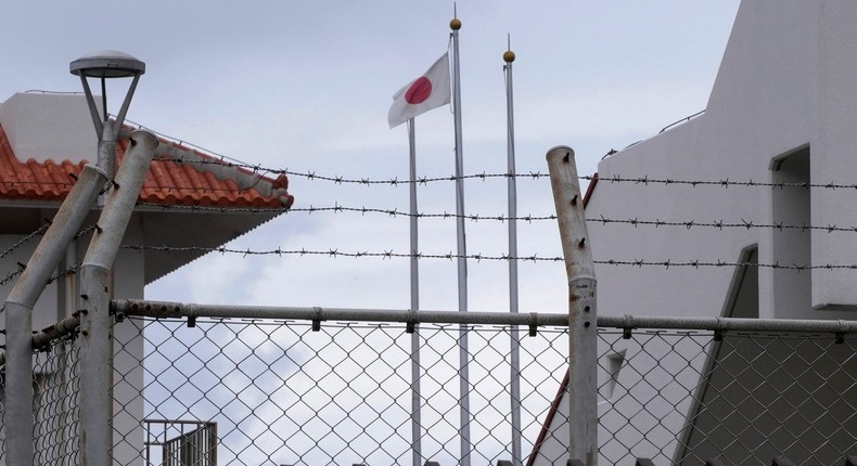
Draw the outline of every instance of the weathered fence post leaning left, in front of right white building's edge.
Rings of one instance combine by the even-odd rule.
[[[548,151],[553,202],[568,276],[568,458],[598,463],[596,272],[574,151]]]

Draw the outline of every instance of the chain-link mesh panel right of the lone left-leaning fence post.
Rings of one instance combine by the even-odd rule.
[[[855,347],[833,334],[602,331],[601,461],[841,464],[857,453]]]

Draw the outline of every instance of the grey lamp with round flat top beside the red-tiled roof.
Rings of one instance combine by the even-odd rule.
[[[92,116],[92,124],[95,126],[95,133],[99,138],[98,166],[113,179],[116,176],[116,134],[125,121],[125,115],[128,113],[128,106],[131,104],[137,82],[140,80],[140,76],[145,73],[145,63],[127,53],[104,50],[75,60],[69,64],[68,68],[73,75],[80,77],[80,82],[84,85],[89,113]],[[101,79],[101,115],[99,115],[99,108],[95,105],[95,99],[92,95],[92,90],[89,88],[87,78]],[[105,82],[107,79],[113,78],[133,78],[128,92],[125,94],[125,101],[123,101],[115,122],[111,122],[110,118],[107,118],[107,89]],[[103,205],[103,197],[99,197],[99,205]]]

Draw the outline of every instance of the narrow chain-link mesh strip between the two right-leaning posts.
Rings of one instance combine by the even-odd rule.
[[[74,337],[55,339],[34,353],[35,464],[79,464],[78,355]]]

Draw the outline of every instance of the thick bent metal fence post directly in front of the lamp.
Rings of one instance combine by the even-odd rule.
[[[148,131],[135,131],[130,144],[81,267],[85,311],[80,315],[80,452],[81,464],[86,466],[112,464],[110,271],[149,171],[157,138]]]

